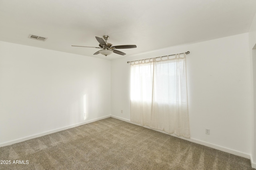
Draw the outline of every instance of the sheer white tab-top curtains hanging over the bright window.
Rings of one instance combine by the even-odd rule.
[[[131,121],[190,138],[186,54],[131,63]]]

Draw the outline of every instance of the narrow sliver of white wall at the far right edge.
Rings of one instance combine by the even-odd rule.
[[[251,84],[254,90],[254,96],[252,96],[252,100],[254,101],[254,111],[252,114],[252,163],[254,164],[253,167],[256,168],[256,14],[254,15],[249,31],[249,49],[252,73]]]

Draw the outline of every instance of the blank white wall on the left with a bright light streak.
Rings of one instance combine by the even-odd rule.
[[[110,116],[110,66],[0,41],[0,145]]]

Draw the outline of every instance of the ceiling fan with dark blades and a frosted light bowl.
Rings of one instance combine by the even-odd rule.
[[[102,54],[102,55],[110,55],[113,52],[119,55],[126,55],[126,53],[123,53],[122,51],[118,51],[116,49],[131,49],[131,48],[136,48],[136,45],[116,45],[113,46],[110,43],[107,43],[107,40],[109,39],[108,35],[104,35],[103,38],[101,37],[95,37],[97,39],[97,41],[100,43],[99,47],[90,47],[90,48],[96,48],[96,49],[101,49],[100,51],[97,51],[96,53],[94,53],[93,55],[96,54]],[[78,45],[71,45],[72,47],[86,47],[86,46],[78,46]]]

